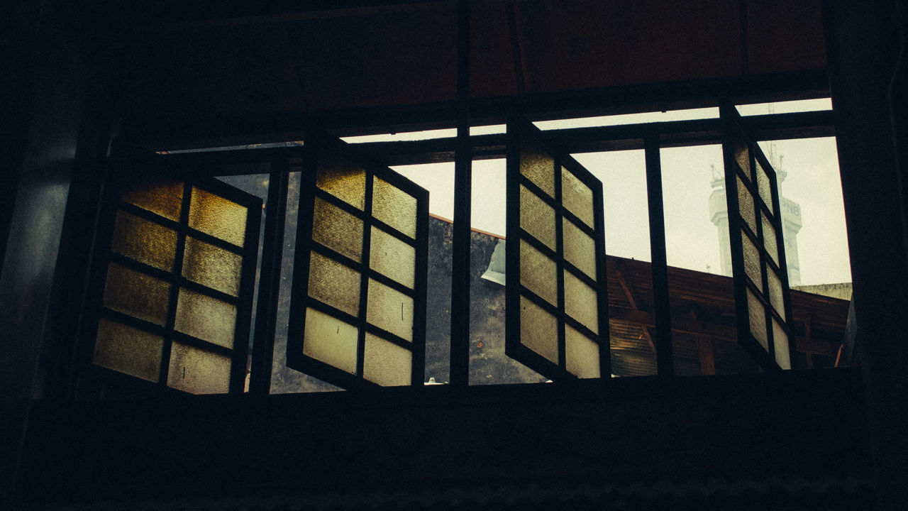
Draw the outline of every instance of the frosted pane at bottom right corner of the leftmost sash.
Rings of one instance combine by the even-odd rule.
[[[230,390],[229,356],[173,343],[167,386],[192,394],[226,394]]]

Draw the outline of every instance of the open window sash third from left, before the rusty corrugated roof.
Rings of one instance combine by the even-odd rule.
[[[609,376],[602,183],[508,122],[506,354],[553,381]]]

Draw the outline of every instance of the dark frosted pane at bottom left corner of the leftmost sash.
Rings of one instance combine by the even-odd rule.
[[[161,371],[160,336],[102,319],[94,341],[94,364],[150,382]]]

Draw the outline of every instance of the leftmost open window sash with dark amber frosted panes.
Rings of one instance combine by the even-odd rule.
[[[242,394],[262,199],[180,158],[120,156],[110,165],[88,374],[140,393]]]

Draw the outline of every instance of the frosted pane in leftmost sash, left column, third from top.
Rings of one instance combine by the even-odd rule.
[[[104,306],[164,326],[170,286],[153,276],[111,263],[104,283]]]

